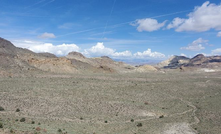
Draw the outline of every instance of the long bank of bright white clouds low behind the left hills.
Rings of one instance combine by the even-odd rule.
[[[30,40],[15,40],[12,42],[17,47],[27,48],[36,53],[49,52],[57,56],[66,56],[69,52],[81,52],[87,57],[109,56],[115,59],[164,59],[166,56],[160,52],[152,52],[147,49],[143,52],[132,53],[131,51],[117,52],[115,49],[105,47],[102,42],[98,42],[91,48],[80,51],[76,44],[53,45],[52,43],[42,43]]]

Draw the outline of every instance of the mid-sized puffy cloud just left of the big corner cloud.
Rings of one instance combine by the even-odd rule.
[[[166,21],[162,23],[158,23],[156,19],[146,18],[146,19],[138,19],[136,20],[135,23],[132,23],[131,25],[138,26],[137,30],[139,32],[142,32],[142,31],[152,32],[152,31],[156,31],[162,28],[165,25],[165,23]]]

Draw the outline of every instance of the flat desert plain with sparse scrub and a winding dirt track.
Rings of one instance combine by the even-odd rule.
[[[0,133],[219,134],[220,76],[167,70],[0,77]]]

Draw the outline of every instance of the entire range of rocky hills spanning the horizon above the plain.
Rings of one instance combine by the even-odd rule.
[[[202,54],[193,58],[172,56],[170,59],[151,65],[130,65],[114,61],[107,56],[87,58],[81,53],[70,52],[64,57],[51,53],[35,53],[18,48],[10,41],[0,38],[0,75],[23,73],[131,73],[167,69],[196,70],[202,68],[219,70],[221,56],[206,57]]]

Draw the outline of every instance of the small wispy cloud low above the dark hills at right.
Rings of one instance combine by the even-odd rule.
[[[193,41],[191,44],[189,44],[187,47],[181,47],[182,50],[189,50],[189,51],[200,51],[205,49],[203,45],[208,45],[208,40],[203,40],[202,38],[199,38],[195,41]]]

